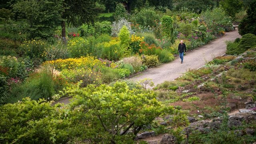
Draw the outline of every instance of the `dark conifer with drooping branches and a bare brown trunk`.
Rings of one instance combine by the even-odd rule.
[[[80,26],[84,23],[94,24],[95,0],[64,0],[64,8],[61,23],[62,38],[66,38],[66,23],[68,26]]]

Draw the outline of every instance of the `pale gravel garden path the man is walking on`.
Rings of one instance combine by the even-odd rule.
[[[206,62],[211,61],[213,58],[225,54],[225,42],[234,41],[236,38],[241,38],[237,29],[232,32],[226,32],[225,36],[222,36],[221,38],[211,41],[200,48],[188,52],[184,56],[183,64],[180,63],[180,58],[176,58],[172,62],[162,64],[155,68],[150,68],[140,74],[132,76],[129,79],[138,81],[144,78],[150,78],[154,82],[155,86],[164,81],[172,81],[181,76],[187,70],[198,69],[206,64]],[[68,104],[69,100],[70,98],[63,98],[55,103]]]

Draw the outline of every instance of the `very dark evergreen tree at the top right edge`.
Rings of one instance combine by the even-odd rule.
[[[256,0],[251,0],[248,4],[247,16],[242,19],[238,26],[240,35],[256,34]]]

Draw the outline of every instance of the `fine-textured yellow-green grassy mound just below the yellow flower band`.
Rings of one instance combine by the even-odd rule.
[[[101,68],[102,82],[110,83],[120,78],[119,71],[108,67]]]

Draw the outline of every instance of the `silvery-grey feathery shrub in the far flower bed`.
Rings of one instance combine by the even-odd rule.
[[[134,34],[130,24],[131,22],[128,22],[125,18],[121,18],[118,21],[113,22],[111,35],[117,37],[123,26],[126,26],[128,28],[130,34]]]

